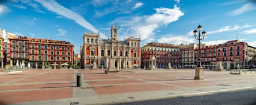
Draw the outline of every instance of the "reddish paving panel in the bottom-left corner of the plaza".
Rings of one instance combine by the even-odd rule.
[[[9,104],[9,103],[30,102],[30,101],[36,101],[36,100],[51,100],[51,99],[70,98],[70,97],[72,97],[72,88],[1,92],[0,102]]]

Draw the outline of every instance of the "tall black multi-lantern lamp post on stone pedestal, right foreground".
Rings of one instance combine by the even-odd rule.
[[[194,39],[196,39],[196,40],[198,40],[198,51],[199,51],[199,53],[198,53],[198,64],[197,64],[197,67],[196,67],[196,76],[194,76],[194,79],[204,79],[203,78],[203,76],[202,76],[202,66],[201,66],[201,50],[200,50],[200,45],[201,45],[201,43],[200,43],[200,41],[201,40],[203,40],[204,38],[205,38],[205,31],[202,31],[202,33],[201,33],[201,28],[202,28],[202,26],[201,25],[199,25],[198,27],[197,27],[197,30],[196,29],[194,29],[194,31],[193,31],[193,33],[194,33]],[[198,31],[198,36],[197,36],[197,31]],[[202,36],[201,36],[201,34],[202,34]]]

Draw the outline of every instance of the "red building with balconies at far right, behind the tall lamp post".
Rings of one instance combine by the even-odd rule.
[[[252,48],[253,50],[247,50]],[[223,62],[223,67],[227,70],[232,68],[246,68],[248,66],[250,51],[255,48],[248,45],[246,42],[238,40],[228,41],[221,45],[202,46],[201,50],[201,64],[203,67],[212,67],[213,62]],[[198,47],[194,50],[195,65],[198,62]]]

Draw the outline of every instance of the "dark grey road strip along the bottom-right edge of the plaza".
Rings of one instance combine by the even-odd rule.
[[[212,95],[201,95],[201,96],[178,96],[177,98],[170,99],[159,99],[159,100],[148,100],[143,102],[132,102],[132,103],[119,103],[114,105],[169,105],[169,104],[182,104],[182,105],[240,105],[256,104],[256,88],[254,90],[244,91],[229,91],[223,93],[217,93]]]

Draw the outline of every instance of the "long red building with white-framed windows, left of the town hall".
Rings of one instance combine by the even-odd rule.
[[[10,66],[41,68],[42,64],[50,66],[73,63],[74,46],[70,42],[53,41],[29,37],[9,38]]]

